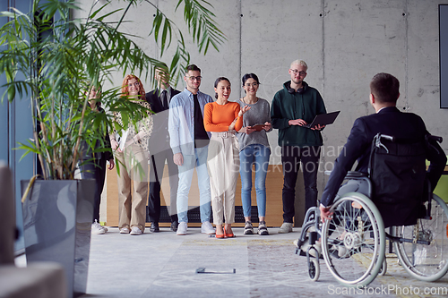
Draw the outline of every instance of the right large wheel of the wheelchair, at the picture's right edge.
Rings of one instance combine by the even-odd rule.
[[[424,281],[435,281],[448,271],[448,207],[436,195],[431,205],[430,219],[418,219],[417,226],[396,226],[392,230],[397,237],[412,240],[417,235],[418,240],[429,242],[394,243],[403,268]]]

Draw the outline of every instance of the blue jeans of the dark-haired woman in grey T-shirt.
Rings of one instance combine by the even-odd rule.
[[[239,175],[241,176],[241,201],[245,217],[251,216],[252,165],[255,165],[255,192],[258,217],[266,215],[266,175],[271,149],[252,144],[239,152]]]

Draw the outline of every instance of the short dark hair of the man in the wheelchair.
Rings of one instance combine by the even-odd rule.
[[[370,92],[380,102],[397,102],[400,96],[400,81],[392,74],[380,72],[370,81]]]

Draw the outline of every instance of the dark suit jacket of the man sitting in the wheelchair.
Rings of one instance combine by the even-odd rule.
[[[334,162],[332,175],[330,175],[323,191],[321,200],[323,206],[332,205],[340,184],[357,159],[356,171],[367,173],[370,146],[378,132],[400,139],[420,139],[428,134],[425,123],[418,115],[401,113],[395,106],[384,107],[377,114],[358,118],[353,124],[344,149]],[[426,159],[431,161],[426,176],[434,190],[440,175],[444,171],[446,157],[444,150],[438,144],[434,144],[434,147],[426,151]]]

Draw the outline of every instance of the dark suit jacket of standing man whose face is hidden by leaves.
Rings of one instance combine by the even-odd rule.
[[[180,91],[171,87],[168,87],[167,91],[169,106],[171,98],[180,93]],[[156,113],[156,115],[152,116],[153,127],[148,146],[150,154],[157,154],[163,150],[171,149],[169,147],[168,134],[168,109],[163,107],[163,103],[160,100],[160,94],[161,92],[159,89],[153,89],[146,93],[146,101],[151,105],[152,112]]]

